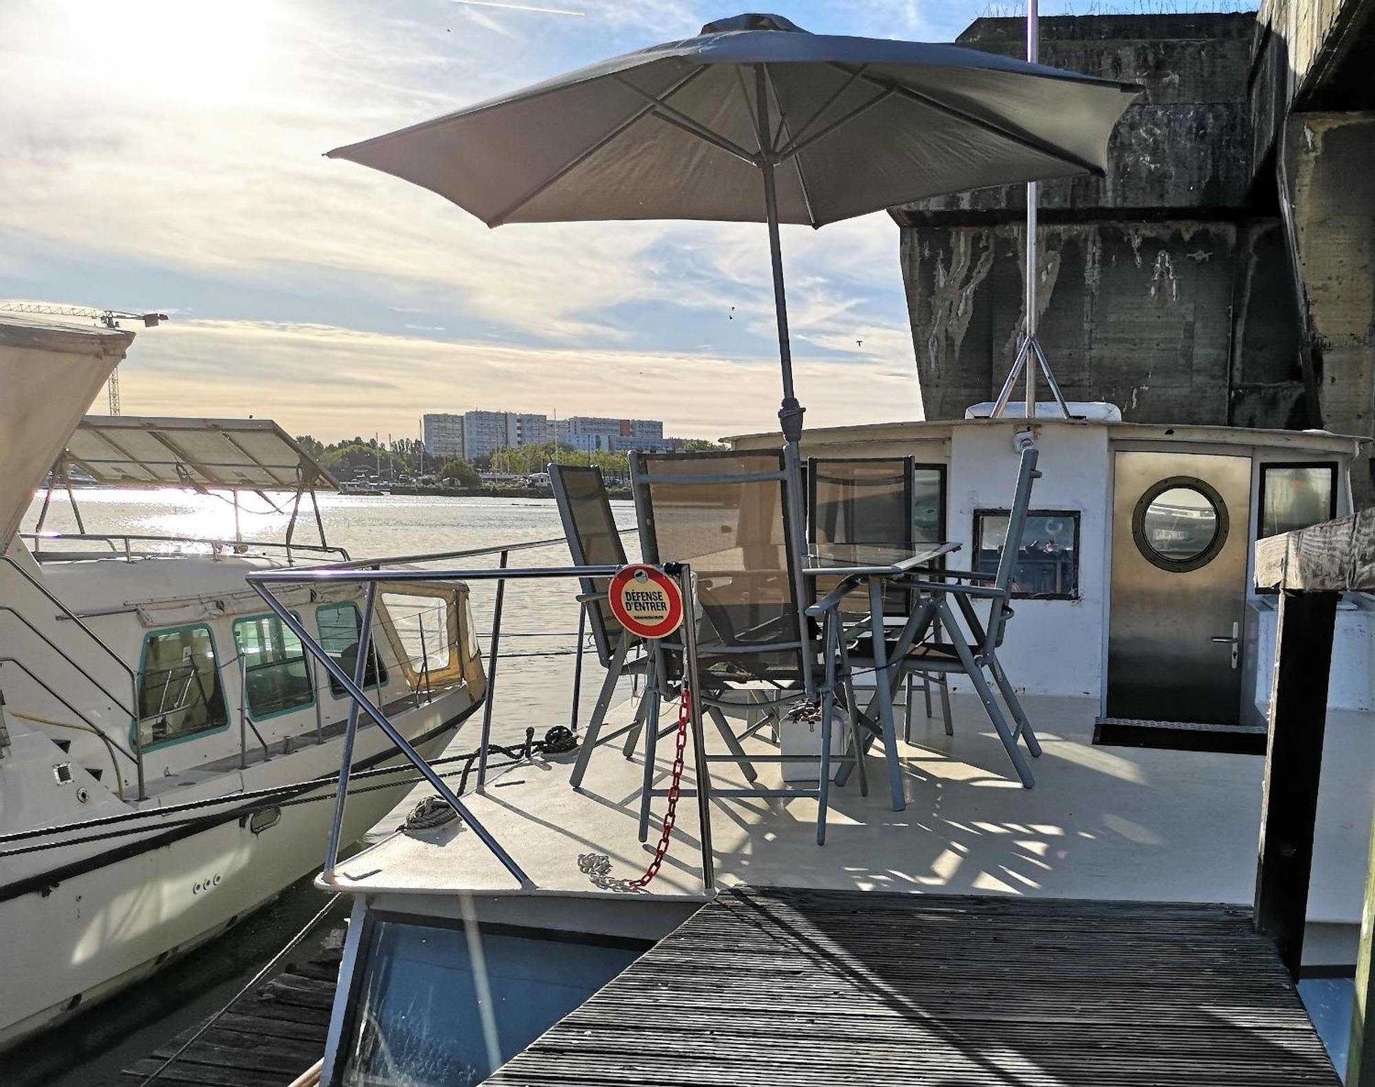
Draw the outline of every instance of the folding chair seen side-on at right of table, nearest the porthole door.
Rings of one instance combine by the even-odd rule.
[[[884,660],[894,662],[890,676],[888,698],[891,699],[906,671],[931,671],[939,674],[962,674],[969,677],[969,682],[979,695],[989,720],[993,722],[1002,742],[1018,777],[1026,788],[1035,784],[1031,768],[1022,754],[1018,742],[1026,744],[1027,751],[1035,758],[1041,754],[1041,743],[1037,740],[1031,722],[1027,720],[1018,700],[1016,691],[1008,681],[1006,673],[998,660],[997,649],[1002,645],[1008,619],[1012,618],[1012,608],[1008,601],[1012,596],[1012,577],[1016,571],[1018,559],[1022,550],[1022,539],[1026,531],[1027,509],[1031,505],[1031,484],[1040,477],[1035,468],[1035,447],[1024,449],[1018,466],[1016,490],[1012,508],[1008,513],[1008,534],[1002,544],[1002,555],[998,559],[998,568],[994,574],[976,571],[946,570],[928,571],[939,574],[943,581],[913,579],[910,586],[923,594],[921,603],[902,632],[894,638],[886,638]],[[987,600],[989,615],[980,621],[975,611],[974,601]],[[954,603],[960,615],[968,625],[968,634],[960,627]],[[927,630],[935,626],[936,640],[924,643],[921,638]],[[943,636],[943,637],[942,637]],[[866,643],[869,638],[861,637],[854,651],[846,652],[842,647],[842,667],[870,669],[879,665],[873,654],[873,647]],[[1013,718],[1013,727],[1008,725],[993,689],[984,678],[987,669],[994,684],[1002,695],[1004,702]],[[876,695],[881,698],[883,692]],[[872,703],[870,703],[872,704]],[[881,707],[880,707],[881,709]]]

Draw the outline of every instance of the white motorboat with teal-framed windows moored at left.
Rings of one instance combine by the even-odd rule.
[[[348,700],[243,578],[346,555],[290,535],[18,532],[54,464],[58,484],[77,464],[104,486],[220,490],[235,505],[238,490],[285,488],[300,509],[333,486],[268,421],[82,420],[131,338],[0,325],[0,1047],[242,921],[319,863],[330,827]],[[322,586],[292,608],[352,666],[360,600]],[[485,692],[466,594],[382,592],[375,619],[366,681],[434,754]],[[393,753],[364,721],[349,761],[373,773],[344,842],[410,787]]]

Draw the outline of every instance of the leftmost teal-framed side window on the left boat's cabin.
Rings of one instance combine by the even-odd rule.
[[[139,667],[139,746],[147,750],[227,725],[210,627],[148,634]]]

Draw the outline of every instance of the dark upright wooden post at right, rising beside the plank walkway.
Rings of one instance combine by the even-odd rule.
[[[1290,534],[1295,535],[1299,534]],[[1295,980],[1304,956],[1327,681],[1339,597],[1339,592],[1284,589],[1275,636],[1255,927],[1275,941]]]

